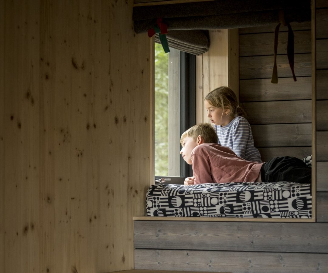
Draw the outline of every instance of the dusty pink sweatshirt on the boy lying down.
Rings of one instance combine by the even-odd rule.
[[[230,148],[204,143],[191,152],[195,184],[255,182],[263,163],[238,157]]]

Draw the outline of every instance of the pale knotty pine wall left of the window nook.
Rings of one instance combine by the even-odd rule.
[[[0,272],[133,269],[154,179],[132,1],[0,1]]]

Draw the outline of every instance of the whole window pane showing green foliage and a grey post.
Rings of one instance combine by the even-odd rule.
[[[155,44],[155,175],[180,176],[180,51]]]

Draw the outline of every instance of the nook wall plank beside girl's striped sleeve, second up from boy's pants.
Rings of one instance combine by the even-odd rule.
[[[311,146],[312,124],[252,125],[256,147]]]

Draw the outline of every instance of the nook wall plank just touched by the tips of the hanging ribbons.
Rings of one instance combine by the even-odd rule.
[[[293,78],[280,78],[277,84],[271,83],[271,79],[240,80],[239,100],[241,102],[310,100],[311,84],[311,77],[299,77],[296,82]]]

